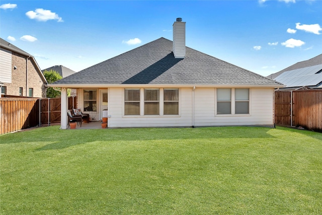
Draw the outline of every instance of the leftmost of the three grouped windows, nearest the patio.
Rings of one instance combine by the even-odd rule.
[[[125,115],[140,115],[140,89],[125,89]]]

